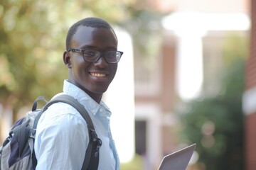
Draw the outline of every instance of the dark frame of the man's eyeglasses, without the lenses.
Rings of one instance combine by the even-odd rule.
[[[85,52],[86,50],[90,50],[90,49],[71,48],[70,50],[68,50],[68,52],[74,52],[74,53],[75,53],[75,52],[82,52],[82,58],[83,58],[83,60],[85,60],[84,52]],[[105,59],[105,61],[106,61],[107,63],[115,64],[115,63],[117,63],[117,62],[120,61],[122,55],[124,54],[124,52],[122,52],[122,51],[114,51],[114,50],[112,50],[112,51],[107,51],[107,52],[119,52],[119,53],[120,53],[120,57],[119,57],[119,60],[117,60],[117,62],[108,62],[107,59],[106,59],[106,57],[105,57],[105,54],[106,54],[107,52],[100,52],[100,51],[98,51],[98,50],[93,50],[93,51],[99,52],[99,53],[100,53],[100,56],[97,57],[97,59],[96,59],[95,61],[87,61],[87,60],[85,60],[85,62],[97,62],[98,60],[100,60],[100,57],[104,57],[104,59]]]

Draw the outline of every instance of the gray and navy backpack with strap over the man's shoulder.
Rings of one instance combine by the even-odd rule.
[[[40,100],[45,101],[46,105],[41,109],[36,109],[37,103]],[[97,137],[90,115],[75,98],[67,94],[61,94],[49,102],[43,96],[39,96],[33,103],[32,110],[26,113],[25,117],[14,123],[9,132],[9,137],[4,140],[3,145],[0,147],[0,170],[36,169],[37,160],[33,149],[36,126],[43,112],[50,105],[57,102],[68,103],[70,106],[73,106],[87,122],[90,141],[87,146],[85,160],[82,164],[82,170],[97,169],[102,142]]]

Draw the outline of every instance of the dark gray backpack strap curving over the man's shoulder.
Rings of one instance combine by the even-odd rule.
[[[82,115],[82,118],[85,119],[90,139],[85,153],[85,160],[82,164],[82,170],[97,170],[102,141],[100,140],[100,138],[97,137],[92,120],[90,118],[90,115],[87,113],[85,107],[82,106],[82,104],[80,104],[78,101],[76,101],[75,98],[73,98],[72,96],[69,96],[68,94],[61,94],[60,96],[56,96],[51,101],[49,101],[46,106],[44,106],[43,111],[38,114],[33,128],[36,129],[36,125],[42,113],[46,111],[50,105],[58,102],[67,103],[70,106],[73,106],[80,113],[80,115]]]

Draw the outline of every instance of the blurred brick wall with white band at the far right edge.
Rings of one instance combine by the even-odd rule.
[[[245,166],[247,170],[256,169],[256,1],[251,0],[251,39],[250,57],[247,60],[245,75]]]

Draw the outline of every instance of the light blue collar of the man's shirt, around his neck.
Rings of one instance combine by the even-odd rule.
[[[85,106],[86,110],[93,115],[100,110],[100,108],[104,108],[106,111],[106,116],[110,117],[111,112],[110,109],[106,106],[103,101],[100,101],[100,104],[93,100],[88,94],[85,93],[82,89],[74,84],[70,83],[68,80],[64,80],[63,92],[70,96],[73,96],[79,103]]]

